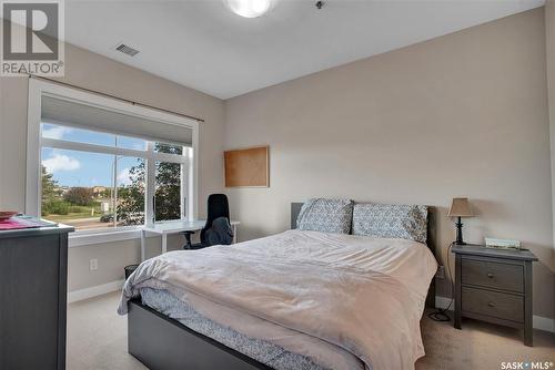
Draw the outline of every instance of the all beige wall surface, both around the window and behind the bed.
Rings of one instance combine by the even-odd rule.
[[[225,111],[218,99],[72,45],[64,81],[205,119],[201,215],[222,187],[222,148],[270,144],[271,187],[228,189],[242,239],[287,228],[290,202],[337,196],[437,206],[445,247],[454,236],[446,206],[468,196],[480,216],[465,222],[466,238],[522,239],[541,258],[535,314],[555,317],[546,103],[553,126],[555,94],[545,82],[547,39],[553,92],[554,8],[548,0],[545,19],[537,9],[256,91]],[[26,79],[0,79],[0,208],[24,207],[27,93]],[[138,244],[71,248],[69,290],[121,279]],[[159,247],[149,240],[151,254]],[[445,281],[438,288],[448,296]]]

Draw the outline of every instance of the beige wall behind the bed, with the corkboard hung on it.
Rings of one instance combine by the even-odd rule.
[[[270,188],[226,189],[242,238],[313,196],[427,204],[445,260],[446,207],[468,196],[466,238],[529,247],[534,311],[554,317],[545,70],[541,8],[226,101],[225,147],[271,148]]]

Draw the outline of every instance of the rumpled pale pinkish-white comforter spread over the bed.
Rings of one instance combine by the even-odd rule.
[[[118,311],[143,287],[168,289],[209,319],[323,367],[413,369],[436,267],[420,243],[289,230],[145,260]]]

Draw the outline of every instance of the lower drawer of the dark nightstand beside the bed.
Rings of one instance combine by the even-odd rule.
[[[504,292],[463,287],[463,312],[524,322],[524,299]]]

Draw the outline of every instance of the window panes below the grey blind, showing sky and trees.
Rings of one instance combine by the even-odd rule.
[[[189,151],[183,145],[44,122],[41,133],[43,218],[77,230],[144,225],[150,163],[153,222],[184,218]]]

